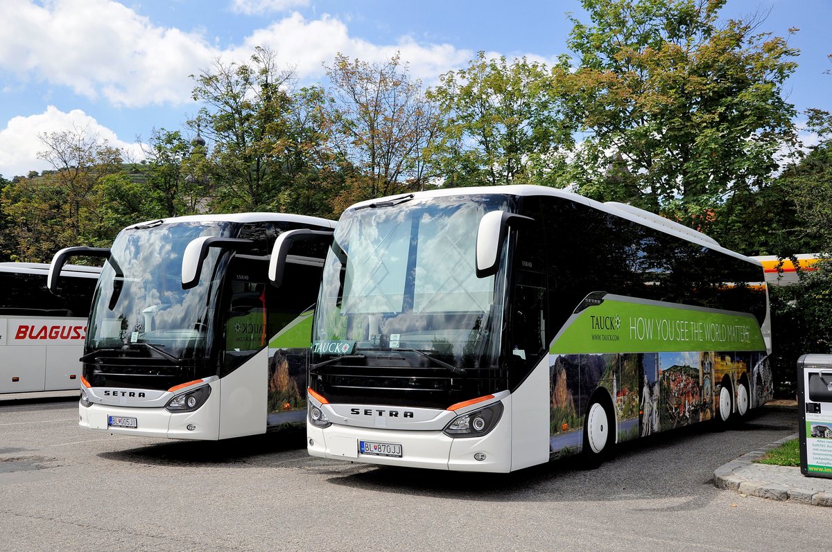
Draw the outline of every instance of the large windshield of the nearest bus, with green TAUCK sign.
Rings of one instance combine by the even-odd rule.
[[[496,366],[504,273],[477,278],[475,249],[483,214],[507,203],[449,196],[344,213],[324,265],[313,355],[417,350],[457,367]]]

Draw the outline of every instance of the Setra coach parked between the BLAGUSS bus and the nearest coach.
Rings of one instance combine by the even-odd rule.
[[[331,236],[333,228],[314,217],[248,213],[121,230],[101,252],[80,426],[216,440],[302,422],[306,311],[318,293],[325,246],[295,244],[280,288],[268,285],[269,253],[287,230]],[[53,270],[76,253],[58,252]]]

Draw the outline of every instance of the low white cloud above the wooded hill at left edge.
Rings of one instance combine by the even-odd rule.
[[[72,128],[83,129],[90,135],[107,140],[110,145],[126,150],[127,155],[135,160],[142,157],[140,145],[119,140],[115,132],[99,125],[84,111],[75,109],[65,113],[48,106],[38,115],[13,117],[0,131],[0,175],[11,179],[12,176],[27,175],[30,170],[52,169],[47,161],[37,158],[38,152],[46,149],[40,136]]]

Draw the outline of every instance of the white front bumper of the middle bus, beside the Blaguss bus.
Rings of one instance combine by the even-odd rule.
[[[163,439],[200,439],[216,441],[220,425],[211,418],[210,401],[195,412],[171,413],[164,408],[115,407],[93,404],[84,407],[78,404],[78,426],[106,431],[113,435],[161,437]],[[135,418],[136,427],[110,426],[110,416]],[[188,426],[193,429],[189,430]]]

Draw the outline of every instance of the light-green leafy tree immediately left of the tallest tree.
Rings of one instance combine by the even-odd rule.
[[[550,70],[479,52],[440,76],[428,97],[443,116],[436,151],[445,185],[568,184],[573,128],[558,93],[567,72],[566,58]]]

